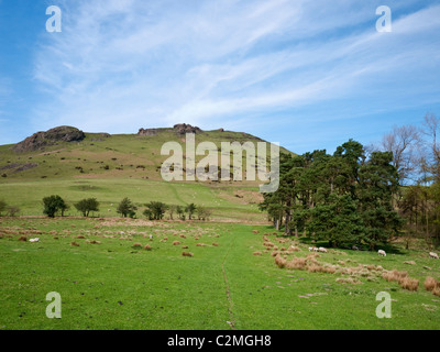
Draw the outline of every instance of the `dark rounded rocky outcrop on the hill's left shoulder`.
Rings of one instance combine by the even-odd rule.
[[[44,150],[46,146],[56,145],[59,142],[80,142],[86,134],[73,127],[58,127],[46,132],[36,132],[24,141],[15,144],[12,150],[16,153]]]

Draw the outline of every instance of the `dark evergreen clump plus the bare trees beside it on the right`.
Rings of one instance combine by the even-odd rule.
[[[374,250],[396,235],[440,242],[440,119],[394,127],[378,143],[280,155],[280,184],[260,208],[285,234]]]

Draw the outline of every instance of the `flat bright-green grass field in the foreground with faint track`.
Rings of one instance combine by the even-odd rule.
[[[346,274],[279,268],[271,251],[265,253],[264,235],[275,245],[300,249],[286,254],[288,260],[308,255],[309,244],[274,235],[262,226],[2,218],[0,233],[3,330],[440,328],[440,297],[424,288],[427,276],[440,278],[440,261],[425,251],[399,250],[378,257],[329,250],[317,257],[320,263],[343,262],[341,267],[369,264],[407,271],[420,280],[418,290],[409,292],[380,275],[358,275],[358,284],[343,284],[337,279]],[[26,242],[19,241],[23,235]],[[36,237],[38,243],[29,241]],[[135,243],[150,244],[152,251],[133,248]],[[184,251],[194,256],[183,256]],[[51,292],[61,294],[62,319],[46,317]],[[376,317],[380,292],[392,296],[391,319]]]

